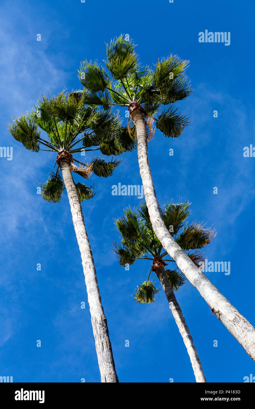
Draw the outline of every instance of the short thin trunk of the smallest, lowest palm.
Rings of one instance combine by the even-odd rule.
[[[157,264],[157,266],[154,268],[153,271],[155,271],[155,273],[157,274],[160,284],[162,285],[162,288],[165,291],[167,301],[169,302],[169,307],[171,308],[171,311],[173,313],[173,316],[178,326],[178,329],[180,331],[180,334],[183,337],[183,342],[190,356],[190,362],[192,364],[196,382],[206,382],[205,374],[204,374],[202,364],[199,359],[199,355],[196,351],[196,347],[194,345],[192,336],[190,335],[190,330],[183,317],[182,310],[174,295],[174,290],[172,289],[172,286],[170,285],[167,279],[165,268],[162,265],[160,265],[160,262],[157,263],[154,261],[154,265],[155,264]]]

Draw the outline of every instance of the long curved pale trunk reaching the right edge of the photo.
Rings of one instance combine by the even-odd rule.
[[[144,188],[144,197],[149,210],[153,230],[178,268],[185,274],[211,308],[211,311],[221,321],[229,332],[244,347],[245,351],[255,361],[255,329],[237,309],[217,290],[203,272],[194,265],[187,254],[175,242],[167,230],[160,215],[156,192],[149,166],[147,132],[144,116],[138,109],[132,112],[137,133],[138,162]]]

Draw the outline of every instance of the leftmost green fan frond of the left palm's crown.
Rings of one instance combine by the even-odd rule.
[[[14,119],[8,128],[14,139],[21,142],[26,149],[33,152],[39,151],[40,130],[28,116],[22,115],[19,119]]]

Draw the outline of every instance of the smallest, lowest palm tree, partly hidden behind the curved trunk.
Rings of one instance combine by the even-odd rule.
[[[172,236],[176,243],[186,251],[190,259],[198,264],[203,261],[203,254],[196,249],[201,249],[214,237],[214,231],[204,229],[196,222],[185,225],[184,222],[190,214],[188,210],[189,202],[168,203],[165,209],[160,209],[160,214],[168,229],[172,231]],[[120,265],[125,267],[127,264],[133,264],[137,259],[153,261],[149,276],[135,292],[135,300],[139,303],[153,303],[155,294],[159,291],[155,288],[155,283],[149,280],[151,272],[155,272],[160,284],[162,285],[169,308],[171,308],[178,329],[183,337],[183,342],[190,356],[192,368],[196,382],[206,382],[202,364],[196,351],[190,330],[183,317],[181,308],[176,300],[174,291],[178,290],[185,282],[183,273],[177,271],[177,267],[172,270],[166,270],[167,262],[174,262],[166,258],[167,252],[163,249],[156,234],[154,233],[149,218],[148,208],[145,203],[141,203],[140,209],[131,211],[130,207],[124,210],[125,216],[115,221],[117,229],[122,235],[122,245],[115,245],[115,253],[119,259]]]

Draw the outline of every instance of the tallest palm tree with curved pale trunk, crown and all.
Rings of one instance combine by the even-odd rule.
[[[144,198],[158,240],[200,292],[212,313],[255,360],[255,329],[190,260],[167,230],[151,177],[147,142],[153,121],[167,137],[180,136],[189,123],[188,118],[173,106],[173,103],[185,99],[192,92],[185,76],[188,61],[171,55],[158,60],[153,69],[142,68],[133,42],[125,40],[123,36],[111,41],[106,53],[107,70],[97,63],[84,61],[81,64],[79,78],[84,86],[86,102],[91,106],[100,106],[107,100],[109,105],[128,107],[130,118],[127,129],[130,141],[136,139],[137,142]],[[168,108],[162,109],[162,106]]]

